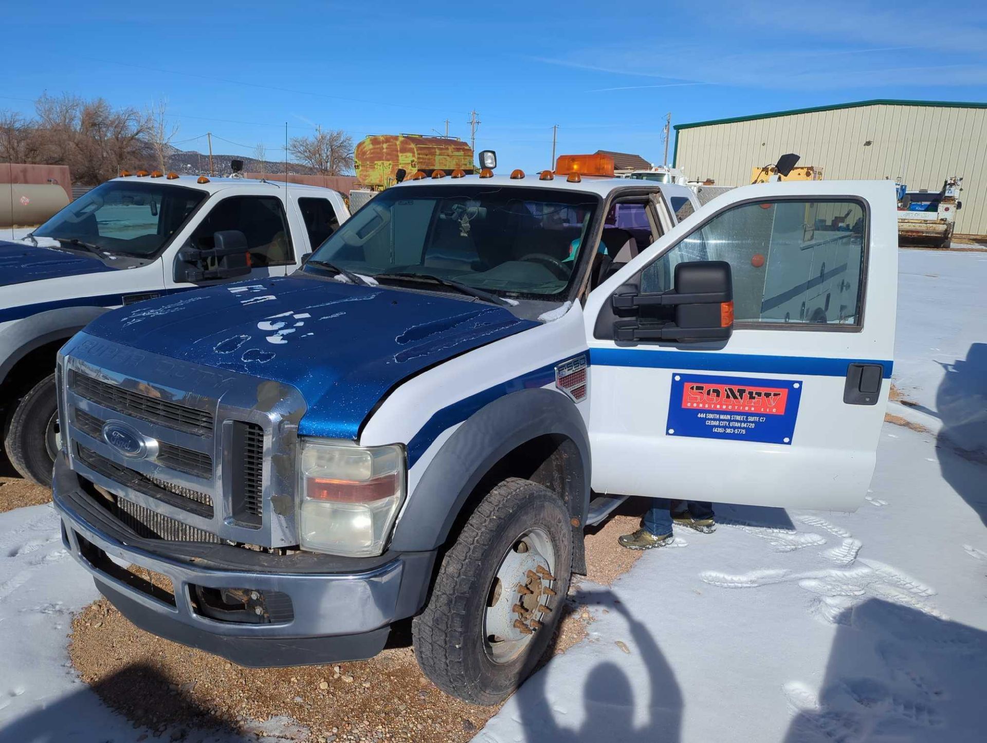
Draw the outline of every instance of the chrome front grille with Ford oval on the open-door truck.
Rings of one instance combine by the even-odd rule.
[[[140,516],[162,539],[298,544],[297,389],[85,332],[59,362],[70,465],[120,514]]]

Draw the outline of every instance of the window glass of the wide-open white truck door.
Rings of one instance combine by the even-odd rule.
[[[650,263],[641,290],[671,289],[680,262],[725,260],[737,323],[860,325],[865,223],[857,201],[734,206]]]

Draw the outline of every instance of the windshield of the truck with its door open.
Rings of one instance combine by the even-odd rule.
[[[548,298],[569,286],[598,205],[595,194],[550,188],[389,188],[343,223],[305,271],[326,271],[322,261]]]

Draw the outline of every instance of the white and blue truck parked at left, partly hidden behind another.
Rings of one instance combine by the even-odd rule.
[[[14,467],[51,483],[51,370],[58,347],[87,323],[108,308],[283,276],[348,216],[329,188],[138,171],[26,238],[0,241],[0,423]]]

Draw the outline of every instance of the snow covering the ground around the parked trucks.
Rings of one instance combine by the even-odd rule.
[[[920,408],[893,411],[931,432],[885,424],[857,513],[721,507],[716,534],[584,583],[590,638],[479,743],[984,740],[987,466],[962,450],[987,439],[987,254],[900,261],[894,376]],[[0,515],[0,741],[144,734],[67,667],[71,613],[96,596],[49,506]]]

